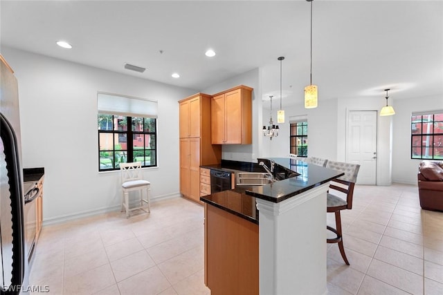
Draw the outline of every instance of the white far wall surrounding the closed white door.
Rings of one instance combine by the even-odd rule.
[[[317,108],[300,104],[284,109],[285,123],[279,124],[278,137],[264,140],[264,155],[287,157],[289,154],[289,120],[291,116],[307,115],[308,155],[346,162],[347,115],[350,111],[379,111],[383,97],[334,98],[318,102]],[[291,98],[295,99],[295,98]],[[265,106],[266,107],[266,106]],[[277,111],[273,111],[277,117]],[[263,111],[263,122],[269,121],[269,109]],[[377,118],[377,184],[391,183],[392,117]]]

